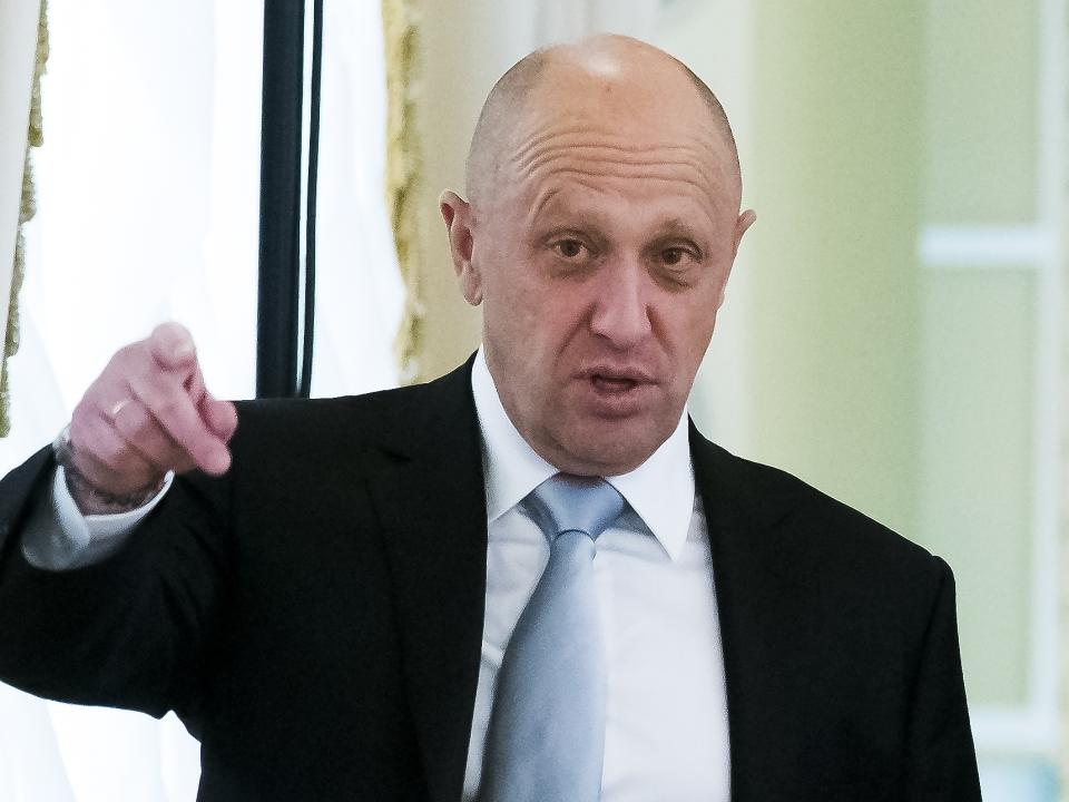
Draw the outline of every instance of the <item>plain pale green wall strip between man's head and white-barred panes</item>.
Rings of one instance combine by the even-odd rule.
[[[759,2],[753,453],[916,532],[920,2]]]

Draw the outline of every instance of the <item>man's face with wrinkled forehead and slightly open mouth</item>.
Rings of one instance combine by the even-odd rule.
[[[461,277],[519,432],[560,470],[612,476],[677,426],[749,218],[693,91],[665,121],[605,92],[577,114],[575,86],[561,89],[565,113],[550,87],[465,209]]]

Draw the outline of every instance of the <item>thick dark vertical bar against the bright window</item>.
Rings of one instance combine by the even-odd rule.
[[[264,1],[256,397],[296,390],[304,0]]]

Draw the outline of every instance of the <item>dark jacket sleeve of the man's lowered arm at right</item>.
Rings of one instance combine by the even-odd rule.
[[[908,802],[979,802],[980,781],[958,645],[954,577],[943,560],[913,683],[905,752]]]

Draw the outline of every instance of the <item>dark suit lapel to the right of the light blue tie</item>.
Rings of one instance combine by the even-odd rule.
[[[724,648],[733,802],[791,799],[804,744],[813,625],[801,538],[757,493],[753,467],[705,440],[692,424]],[[781,507],[782,509],[782,507]]]

